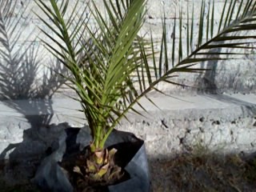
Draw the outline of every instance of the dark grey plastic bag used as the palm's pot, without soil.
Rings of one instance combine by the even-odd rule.
[[[58,142],[53,143],[53,152],[42,160],[32,182],[42,191],[73,192],[74,186],[62,169],[59,162],[74,157],[80,153],[91,141],[88,128],[67,128],[60,136]],[[122,182],[111,186],[104,186],[101,190],[109,192],[148,192],[150,191],[150,176],[146,158],[144,142],[134,134],[114,130],[106,147],[118,150],[115,162],[126,171],[126,178]]]

